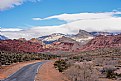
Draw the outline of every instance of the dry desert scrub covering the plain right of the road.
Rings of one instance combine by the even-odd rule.
[[[62,72],[71,81],[105,81],[106,78],[121,81],[121,48],[96,49],[63,58],[69,67]],[[56,68],[65,67],[60,61],[55,62]]]

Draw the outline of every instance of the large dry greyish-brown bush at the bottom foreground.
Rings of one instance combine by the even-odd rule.
[[[80,63],[66,70],[65,75],[71,81],[98,81],[98,72],[90,63]]]

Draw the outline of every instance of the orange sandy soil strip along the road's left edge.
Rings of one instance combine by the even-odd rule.
[[[0,68],[0,79],[4,79],[4,78],[8,77],[9,75],[18,71],[20,68],[22,68],[26,65],[32,64],[32,63],[36,63],[36,62],[40,62],[40,60],[20,62],[20,63],[8,65],[8,66],[2,66]]]

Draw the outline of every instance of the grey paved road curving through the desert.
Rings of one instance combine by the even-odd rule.
[[[38,62],[27,65],[2,81],[34,81],[37,70],[43,63],[44,62]]]

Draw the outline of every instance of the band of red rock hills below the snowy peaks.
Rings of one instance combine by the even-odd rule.
[[[86,45],[81,45],[72,39],[63,37],[59,42],[50,45],[44,45],[41,41],[31,39],[29,41],[21,40],[1,40],[0,50],[13,52],[56,52],[56,51],[88,51],[97,48],[121,47],[121,35],[115,36],[97,36]]]

